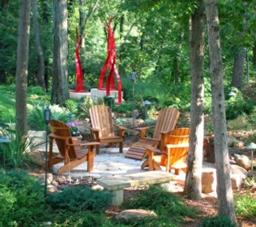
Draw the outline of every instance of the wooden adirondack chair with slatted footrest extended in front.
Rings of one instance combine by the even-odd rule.
[[[140,139],[127,150],[125,157],[142,160],[145,156],[145,145],[162,149],[166,135],[175,129],[179,116],[180,112],[175,108],[160,110],[152,138],[146,137],[146,130],[154,127],[136,128],[140,132]]]

